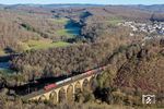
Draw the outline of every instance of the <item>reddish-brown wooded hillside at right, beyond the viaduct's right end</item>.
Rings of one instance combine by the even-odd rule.
[[[163,39],[117,51],[109,58],[108,69],[97,77],[95,97],[108,104],[142,106],[141,96],[154,94],[156,106],[164,107],[163,51]]]

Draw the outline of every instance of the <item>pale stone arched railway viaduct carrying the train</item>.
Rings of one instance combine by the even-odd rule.
[[[32,101],[45,101],[49,100],[52,104],[58,104],[62,101],[74,101],[74,95],[78,92],[82,92],[85,88],[91,87],[94,78],[98,74],[91,74],[71,82],[63,83],[50,90],[39,90],[36,94],[26,95],[24,98]]]

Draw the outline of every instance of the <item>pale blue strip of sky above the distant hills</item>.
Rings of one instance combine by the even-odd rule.
[[[2,4],[16,3],[96,3],[96,4],[164,4],[164,0],[0,0]]]

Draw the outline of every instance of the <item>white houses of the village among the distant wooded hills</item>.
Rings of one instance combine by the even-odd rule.
[[[154,23],[124,22],[120,23],[119,25],[131,27],[132,32],[156,33],[159,35],[164,35],[164,22],[154,22]]]

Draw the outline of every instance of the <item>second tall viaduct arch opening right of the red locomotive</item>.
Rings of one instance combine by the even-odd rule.
[[[72,102],[74,101],[74,87],[73,85],[69,85],[67,88],[67,101]]]

